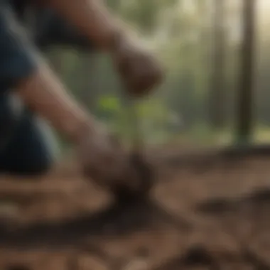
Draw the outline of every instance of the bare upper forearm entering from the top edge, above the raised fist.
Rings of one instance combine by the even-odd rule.
[[[110,50],[115,34],[123,31],[102,0],[43,0],[43,3],[58,11],[103,50]]]

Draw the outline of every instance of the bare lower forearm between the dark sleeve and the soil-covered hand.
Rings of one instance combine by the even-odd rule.
[[[68,140],[76,142],[94,120],[81,109],[45,63],[19,82],[18,95],[28,107],[50,121]]]

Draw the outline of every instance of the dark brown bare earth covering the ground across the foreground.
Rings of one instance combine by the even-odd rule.
[[[114,205],[65,162],[0,180],[0,269],[270,269],[270,156],[158,161],[151,199]]]

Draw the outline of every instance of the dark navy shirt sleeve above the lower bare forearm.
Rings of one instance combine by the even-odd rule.
[[[0,4],[0,94],[35,72],[36,52],[9,4]]]

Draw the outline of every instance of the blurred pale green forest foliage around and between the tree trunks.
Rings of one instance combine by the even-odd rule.
[[[215,72],[212,65],[214,1],[107,0],[110,9],[136,28],[146,44],[156,51],[168,72],[156,94],[137,105],[148,141],[164,142],[182,134],[198,134],[198,129],[214,130],[208,119],[211,77]],[[220,83],[225,90],[222,100],[215,100],[225,108],[222,112],[225,114],[223,129],[230,130],[234,124],[239,75],[242,1],[224,2],[222,38],[225,50],[222,53],[225,61],[222,68],[225,76]],[[254,92],[257,126],[270,124],[270,36],[267,30],[270,5],[267,3],[258,0],[257,13],[260,16],[257,20],[257,83]],[[269,13],[265,9],[269,9]],[[112,129],[124,134],[130,124],[126,123],[121,99],[124,90],[108,55],[56,49],[58,57],[55,57],[55,53],[50,55],[51,51],[49,58],[75,97]],[[215,106],[215,110],[218,108]]]

